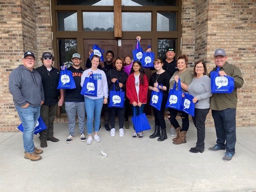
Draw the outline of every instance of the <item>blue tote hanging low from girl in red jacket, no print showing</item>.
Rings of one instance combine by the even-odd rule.
[[[136,133],[151,129],[146,114],[141,113],[140,110],[140,114],[138,116],[135,116],[135,108],[133,110],[132,123]]]

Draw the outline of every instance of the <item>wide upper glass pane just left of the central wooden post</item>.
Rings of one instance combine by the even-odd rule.
[[[83,12],[84,31],[114,31],[114,12]]]

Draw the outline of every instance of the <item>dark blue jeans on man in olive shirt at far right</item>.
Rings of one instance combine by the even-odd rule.
[[[214,119],[218,146],[226,148],[227,152],[234,155],[236,145],[236,109],[212,110],[212,117]]]

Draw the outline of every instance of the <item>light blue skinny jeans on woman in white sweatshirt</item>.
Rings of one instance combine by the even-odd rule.
[[[103,106],[104,98],[100,99],[91,99],[88,97],[84,97],[85,110],[87,115],[87,134],[92,134],[92,124],[93,118],[94,121],[94,132],[98,132],[100,128],[100,114]]]

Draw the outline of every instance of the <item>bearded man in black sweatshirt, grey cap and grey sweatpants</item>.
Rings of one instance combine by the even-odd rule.
[[[66,89],[65,90],[65,110],[68,115],[68,129],[69,134],[66,143],[72,142],[75,135],[75,123],[76,123],[76,114],[78,116],[78,125],[79,125],[79,133],[80,140],[86,141],[84,136],[85,131],[85,106],[84,106],[84,96],[80,94],[82,87],[81,76],[84,72],[82,67],[80,66],[82,60],[81,56],[78,53],[74,53],[72,55],[73,66],[68,68],[72,72],[72,76],[76,83],[75,89]]]

